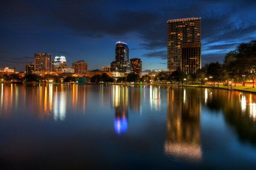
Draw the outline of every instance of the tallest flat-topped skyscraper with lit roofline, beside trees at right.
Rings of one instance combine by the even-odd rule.
[[[187,73],[201,68],[201,18],[167,21],[167,58],[169,73],[178,67]]]

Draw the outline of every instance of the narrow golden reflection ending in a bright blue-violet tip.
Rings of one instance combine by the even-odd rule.
[[[121,135],[128,129],[128,87],[113,85],[113,107],[115,109],[114,129]]]

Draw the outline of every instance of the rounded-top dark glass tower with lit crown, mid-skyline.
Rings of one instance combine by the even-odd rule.
[[[129,48],[125,42],[116,42],[115,61],[111,62],[111,77],[124,77],[131,73]]]

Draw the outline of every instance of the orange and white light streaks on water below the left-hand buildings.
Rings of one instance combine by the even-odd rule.
[[[78,85],[1,84],[0,113],[11,116],[12,113],[25,109],[39,119],[63,121],[67,108],[85,113],[87,105],[87,88]]]

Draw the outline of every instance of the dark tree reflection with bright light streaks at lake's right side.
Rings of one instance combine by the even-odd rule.
[[[256,95],[210,89],[211,110],[223,111],[225,121],[236,130],[241,142],[256,145]],[[213,113],[213,112],[211,112]]]

